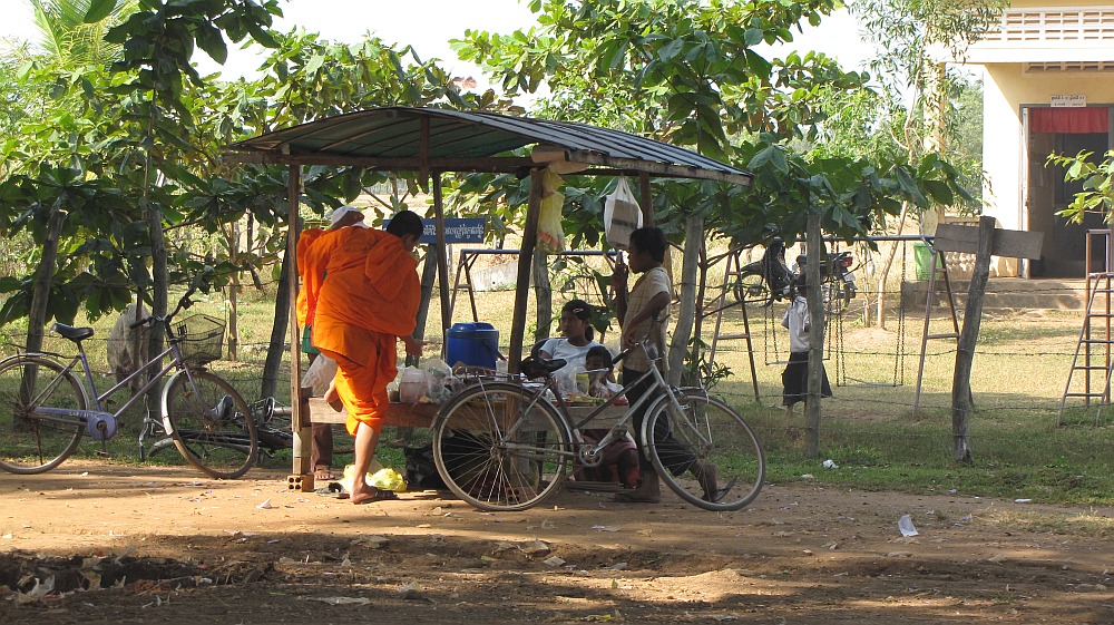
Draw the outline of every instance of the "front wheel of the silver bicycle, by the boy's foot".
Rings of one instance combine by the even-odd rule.
[[[739,510],[754,500],[765,478],[762,445],[730,406],[701,389],[682,389],[674,412],[668,397],[651,407],[641,432],[657,475],[682,499],[705,510]],[[654,436],[645,436],[654,432]],[[694,461],[716,468],[716,488],[705,492],[692,475]],[[695,465],[698,467],[700,465]]]

